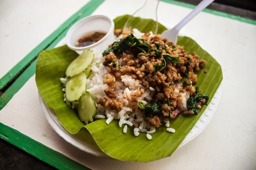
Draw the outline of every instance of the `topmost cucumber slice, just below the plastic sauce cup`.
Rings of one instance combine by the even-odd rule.
[[[86,68],[93,62],[94,54],[93,51],[86,50],[74,59],[67,67],[66,76],[72,77],[76,74],[85,71]]]

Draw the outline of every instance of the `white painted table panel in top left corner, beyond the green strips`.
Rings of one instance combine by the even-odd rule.
[[[72,2],[0,0],[0,78],[89,0]]]

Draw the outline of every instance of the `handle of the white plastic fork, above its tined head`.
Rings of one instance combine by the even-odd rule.
[[[196,6],[193,11],[191,11],[183,20],[181,20],[174,28],[177,31],[186,25],[193,17],[195,17],[199,12],[203,11],[204,8],[209,6],[214,0],[203,0],[201,3]]]

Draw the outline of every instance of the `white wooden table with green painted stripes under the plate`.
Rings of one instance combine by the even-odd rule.
[[[0,77],[3,77],[11,68],[17,65],[29,51],[50,35],[53,30],[62,29],[64,25],[58,26],[78,11],[86,2],[88,1],[77,0],[75,4],[70,0],[55,0],[54,2],[26,0],[15,1],[15,3],[1,1],[0,50],[2,55],[0,56]],[[161,2],[159,6],[159,9],[161,9],[159,10],[160,22],[170,21],[169,25],[177,23],[193,7],[175,1],[169,2]],[[90,10],[93,14],[107,14],[114,18],[132,12],[131,10],[125,11],[123,8],[116,8],[115,13],[111,12],[109,7],[115,6],[116,1],[114,0],[100,0],[97,3],[94,0],[90,4]],[[127,8],[133,8],[135,3],[139,5],[139,2],[135,0],[122,3]],[[93,8],[96,10],[94,11]],[[90,10],[82,11],[81,14],[84,14],[84,12],[90,14]],[[170,20],[164,11],[169,11],[169,14],[175,17]],[[79,13],[77,13],[77,16],[79,16]],[[233,19],[230,19],[230,17]],[[20,67],[13,70],[17,72],[18,78],[12,80],[9,88],[6,86],[4,94],[0,97],[0,102],[2,102],[0,108],[6,105],[0,111],[0,122],[2,123],[0,124],[0,133],[4,134],[4,136],[0,134],[1,138],[61,169],[82,168],[75,161],[93,170],[121,168],[125,170],[131,168],[139,170],[256,169],[256,109],[254,107],[256,103],[256,90],[254,89],[256,80],[253,78],[253,75],[256,74],[253,66],[253,63],[256,62],[254,57],[256,53],[256,22],[231,15],[223,17],[222,13],[206,10],[188,23],[183,31],[186,31],[218,60],[223,69],[224,79],[221,103],[210,125],[196,139],[175,151],[171,157],[149,163],[123,162],[91,156],[65,142],[49,127],[41,111],[35,86],[35,76],[33,76],[35,73],[33,57],[25,59]],[[50,43],[43,45],[46,45],[46,48],[53,47],[54,43],[57,43],[60,39],[61,36],[55,37]],[[14,75],[11,75],[12,72],[10,72],[7,78],[11,80],[16,72],[13,72]],[[14,96],[12,97],[12,95]],[[12,136],[12,134],[16,136]],[[29,143],[31,139],[27,137],[41,144]],[[20,142],[20,140],[28,142]],[[3,142],[1,144],[4,148],[1,150],[2,155],[9,155],[6,152],[6,146],[9,145]],[[44,146],[52,148],[52,150]],[[10,159],[13,160],[13,165],[9,168],[24,169],[26,164],[31,165],[30,169],[46,168],[40,163],[31,164],[29,162],[31,158],[22,159],[28,161],[22,167],[17,159],[29,156],[22,153],[22,156],[15,157],[16,154],[20,153],[14,150],[13,152],[12,159]],[[59,160],[54,160],[50,156]],[[1,157],[0,153],[1,159],[6,160]],[[0,169],[4,168],[1,166],[3,164],[0,165]],[[8,167],[7,164],[4,166]],[[47,168],[51,169],[52,167]]]

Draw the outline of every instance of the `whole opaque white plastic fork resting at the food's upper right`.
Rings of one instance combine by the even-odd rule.
[[[178,33],[180,29],[186,25],[192,18],[194,18],[199,12],[204,10],[209,6],[214,0],[203,0],[201,3],[196,6],[193,11],[191,11],[183,20],[181,20],[175,27],[172,29],[164,31],[161,35],[163,38],[172,40],[174,43],[177,43]]]

